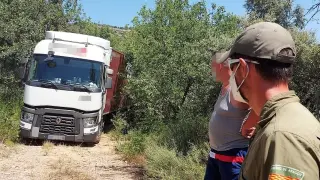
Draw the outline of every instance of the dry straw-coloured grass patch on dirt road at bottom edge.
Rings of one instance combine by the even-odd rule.
[[[90,177],[77,169],[72,164],[71,159],[59,158],[51,164],[53,172],[49,173],[48,180],[94,180],[95,178]]]

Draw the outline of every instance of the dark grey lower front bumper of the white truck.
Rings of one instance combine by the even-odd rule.
[[[72,142],[97,142],[99,139],[102,121],[100,121],[100,124],[90,128],[84,128],[83,122],[84,118],[99,116],[98,112],[84,114],[77,111],[51,108],[35,110],[29,107],[23,107],[22,111],[34,114],[34,118],[31,123],[27,123],[22,120],[20,121],[20,137],[22,138]],[[50,114],[50,118],[52,118],[50,119],[50,123],[52,124],[45,124],[48,122],[48,120],[45,120],[44,115],[46,114]],[[55,124],[55,117],[64,116],[73,117],[72,126],[63,125],[61,123]],[[63,130],[65,132],[63,132]]]

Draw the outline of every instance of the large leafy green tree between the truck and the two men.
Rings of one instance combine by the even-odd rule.
[[[203,122],[214,103],[212,92],[218,90],[210,77],[208,50],[230,45],[239,23],[221,7],[213,5],[208,12],[203,1],[191,5],[159,0],[155,10],[143,7],[133,20],[125,48],[133,55],[134,74],[126,88],[135,127],[143,132],[169,128],[178,150],[184,152],[203,141],[207,134]],[[194,138],[188,142],[187,137]]]

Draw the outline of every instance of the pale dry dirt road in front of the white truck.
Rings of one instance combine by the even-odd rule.
[[[115,153],[116,142],[103,135],[94,147],[45,142],[37,145],[0,145],[1,180],[130,180],[140,179],[139,168]]]

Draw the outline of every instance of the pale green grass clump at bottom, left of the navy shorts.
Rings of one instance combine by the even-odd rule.
[[[187,155],[176,149],[160,146],[150,138],[146,148],[146,170],[149,178],[160,179],[203,179],[204,163],[207,159],[208,146],[192,147]]]

